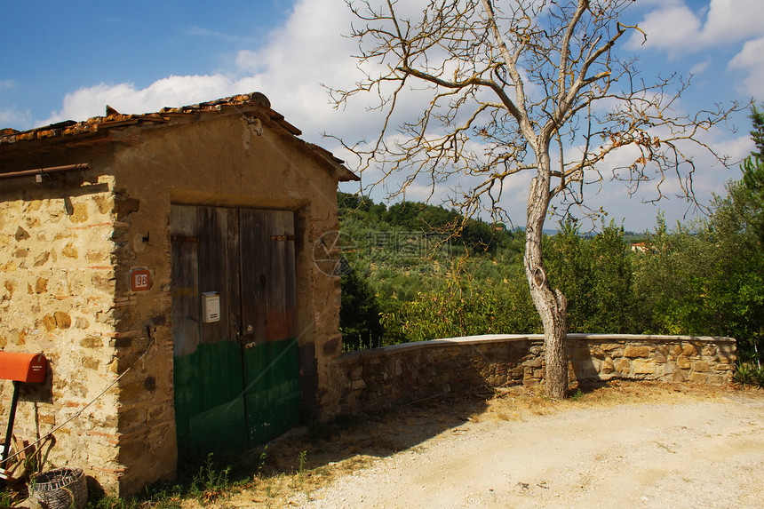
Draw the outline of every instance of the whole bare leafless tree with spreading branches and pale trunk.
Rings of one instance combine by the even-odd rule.
[[[547,282],[542,228],[550,206],[562,214],[585,207],[585,184],[623,180],[631,192],[646,182],[663,197],[679,179],[692,199],[694,163],[688,142],[720,157],[698,137],[737,105],[692,115],[675,111],[688,82],[680,76],[645,83],[636,59],[614,46],[638,27],[619,22],[632,0],[347,0],[357,20],[359,68],[365,79],[331,89],[338,107],[377,94],[385,122],[378,138],[352,146],[360,171],[402,175],[398,193],[419,179],[436,187],[460,179],[450,197],[466,216],[501,205],[505,180],[531,172],[525,223],[525,271],[544,324],[546,392],[568,386],[567,300]],[[499,4],[501,4],[499,6]],[[415,120],[397,120],[405,94],[426,102]],[[408,98],[407,98],[408,99]],[[397,132],[394,132],[394,124]],[[614,151],[630,163],[602,170]],[[633,156],[633,159],[631,158]],[[554,200],[554,202],[553,202]]]

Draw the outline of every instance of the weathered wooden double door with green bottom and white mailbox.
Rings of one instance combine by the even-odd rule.
[[[296,425],[292,212],[172,205],[171,245],[179,448],[241,450]]]

